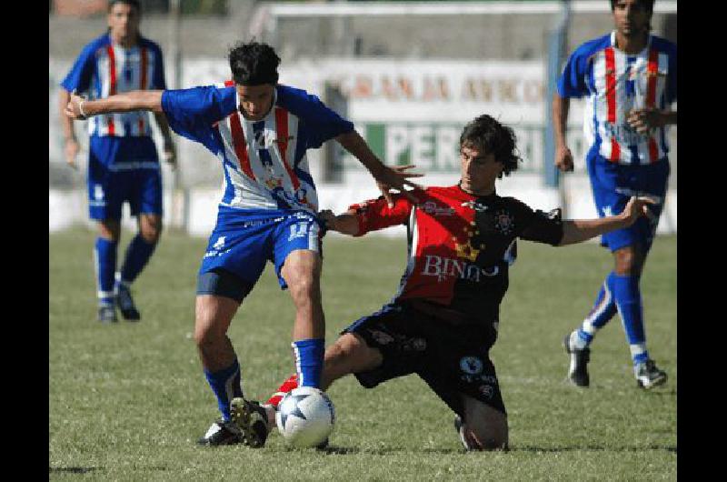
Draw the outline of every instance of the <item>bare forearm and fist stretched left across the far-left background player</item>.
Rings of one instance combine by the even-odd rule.
[[[74,93],[65,105],[65,115],[72,119],[85,119],[91,115],[129,112],[133,110],[162,111],[163,90],[133,90],[110,95],[104,99],[87,100]]]

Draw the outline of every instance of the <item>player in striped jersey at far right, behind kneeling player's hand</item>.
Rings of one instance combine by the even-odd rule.
[[[615,30],[579,46],[568,59],[553,97],[555,165],[573,170],[565,139],[570,97],[586,97],[583,130],[593,200],[599,216],[622,212],[630,196],[649,194],[651,217],[602,238],[613,256],[591,312],[565,336],[568,377],[588,387],[590,345],[598,330],[619,313],[639,387],[666,382],[646,349],[639,282],[652,246],[669,177],[667,127],[676,124],[676,45],[650,35],[653,0],[611,0]]]

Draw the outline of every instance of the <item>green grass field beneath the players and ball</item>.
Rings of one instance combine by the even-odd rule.
[[[192,339],[206,240],[164,233],[134,285],[142,322],[102,326],[94,239],[85,229],[49,239],[51,479],[676,479],[675,236],[657,239],[642,279],[650,353],[670,375],[652,392],[635,387],[618,317],[594,342],[592,387],[565,382],[561,341],[590,308],[611,266],[607,252],[593,243],[520,243],[492,351],[509,413],[506,453],[465,453],[453,414],[417,377],[373,390],[353,377],[337,382],[325,452],[286,448],[277,434],[259,450],[195,447],[218,417]],[[326,239],[329,341],[393,296],[405,250],[403,239]],[[290,298],[268,268],[229,333],[246,396],[264,398],[292,373],[292,319]]]

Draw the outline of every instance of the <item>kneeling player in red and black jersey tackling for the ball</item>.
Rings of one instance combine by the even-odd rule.
[[[507,448],[507,412],[489,350],[517,238],[572,245],[632,225],[648,216],[652,200],[632,197],[617,216],[563,221],[560,209],[533,211],[498,196],[495,180],[517,169],[520,157],[513,130],[490,115],[464,127],[460,157],[460,183],[416,192],[418,205],[400,194],[393,206],[379,198],[341,216],[321,213],[329,229],[352,236],[406,224],[409,243],[399,293],[328,346],[321,387],[349,374],[371,388],[415,373],[453,409],[464,447]],[[270,423],[280,398],[296,386],[290,377],[268,400]]]

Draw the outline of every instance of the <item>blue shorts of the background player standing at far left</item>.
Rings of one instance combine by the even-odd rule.
[[[87,186],[92,219],[121,219],[124,202],[129,203],[132,216],[162,216],[162,174],[149,137],[92,136]]]

